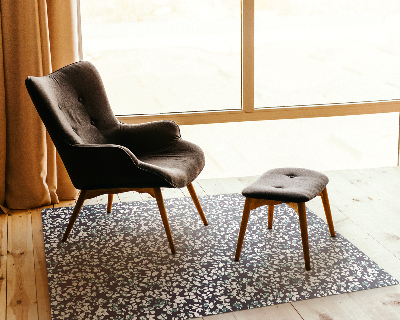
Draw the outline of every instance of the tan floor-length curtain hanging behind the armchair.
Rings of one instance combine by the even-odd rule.
[[[0,0],[0,19],[0,205],[73,199],[77,191],[24,81],[78,60],[76,0]]]

